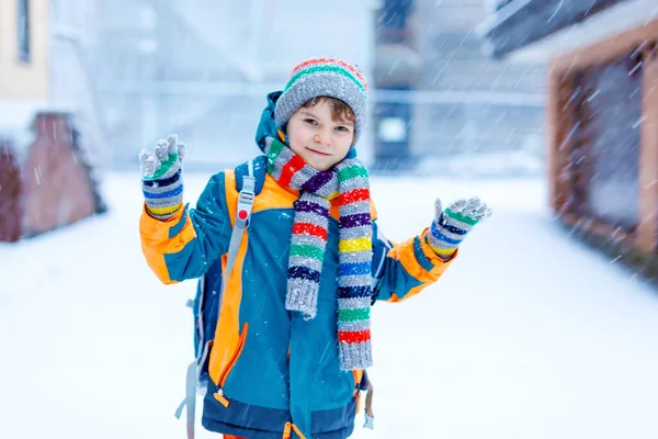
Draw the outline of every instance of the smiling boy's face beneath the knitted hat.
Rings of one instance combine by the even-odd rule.
[[[315,169],[327,171],[348,155],[354,142],[354,123],[333,120],[331,103],[322,99],[293,114],[287,137],[297,156]]]

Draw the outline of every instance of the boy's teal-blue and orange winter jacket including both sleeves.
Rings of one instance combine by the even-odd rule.
[[[285,308],[299,193],[264,172],[260,181],[251,224],[224,292],[202,424],[249,439],[343,439],[354,428],[362,372],[339,368],[338,206],[331,210],[317,316],[305,320]],[[163,283],[200,278],[217,258],[226,263],[237,198],[236,172],[225,170],[209,179],[196,209],[186,206],[166,222],[143,212],[141,248]],[[378,230],[374,206],[371,213],[373,302],[399,302],[417,294],[454,260],[444,262],[430,249],[427,230],[393,245]]]

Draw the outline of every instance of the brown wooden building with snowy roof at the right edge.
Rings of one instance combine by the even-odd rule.
[[[512,0],[481,35],[495,57],[549,60],[547,177],[556,216],[656,277],[656,2]]]

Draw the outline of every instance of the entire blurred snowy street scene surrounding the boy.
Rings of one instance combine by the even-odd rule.
[[[387,237],[494,207],[375,307],[355,438],[658,437],[656,0],[0,0],[0,437],[183,437],[195,284],[144,261],[138,153],[177,133],[194,205],[317,56],[370,82]]]

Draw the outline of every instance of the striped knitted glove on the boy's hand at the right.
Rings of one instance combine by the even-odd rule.
[[[436,199],[434,221],[427,234],[427,241],[436,255],[449,260],[473,226],[489,216],[491,210],[477,196],[455,201],[445,211],[441,200]]]

